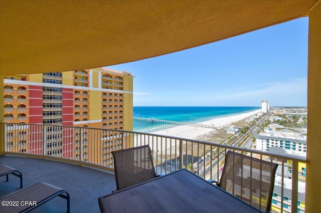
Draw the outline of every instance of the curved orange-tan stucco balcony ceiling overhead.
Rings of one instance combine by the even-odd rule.
[[[1,0],[1,74],[113,65],[307,16],[317,0]]]

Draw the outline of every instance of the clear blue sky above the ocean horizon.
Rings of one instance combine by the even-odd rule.
[[[134,106],[306,106],[307,36],[303,17],[106,67],[135,76]]]

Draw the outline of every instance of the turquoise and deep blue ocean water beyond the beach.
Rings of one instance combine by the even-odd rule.
[[[257,106],[134,106],[133,116],[198,123],[260,108]],[[158,131],[174,126],[176,125],[133,120],[133,130],[140,132]]]

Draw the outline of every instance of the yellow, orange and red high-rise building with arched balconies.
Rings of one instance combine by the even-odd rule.
[[[83,148],[82,157],[86,159],[92,148],[86,146],[87,132],[81,132],[80,143],[80,132],[74,132],[75,128],[66,131],[50,124],[132,130],[133,77],[128,71],[102,67],[5,75],[5,122],[46,124],[41,138],[24,135],[24,125],[21,129],[12,129],[11,135],[6,135],[8,147],[19,152],[28,149],[29,153],[40,154],[45,151],[47,155],[67,158],[75,158],[75,150]],[[16,138],[15,135],[20,136]],[[47,147],[33,145],[41,140],[45,140]],[[24,145],[26,141],[29,146]],[[117,141],[121,142],[119,138]],[[78,147],[79,144],[83,147]]]

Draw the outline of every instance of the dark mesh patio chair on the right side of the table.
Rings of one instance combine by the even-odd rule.
[[[276,167],[277,163],[229,150],[220,182],[210,182],[263,211],[269,211]]]

